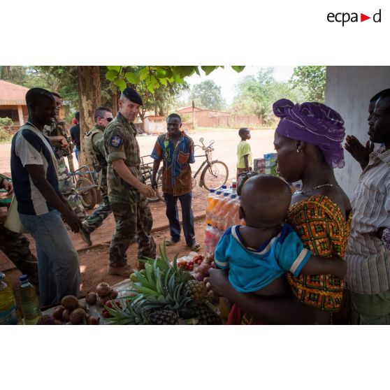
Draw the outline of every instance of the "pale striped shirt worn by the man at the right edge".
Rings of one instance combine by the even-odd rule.
[[[390,227],[390,150],[370,154],[352,200],[347,252],[347,288],[358,294],[390,289],[390,250],[375,232]]]

